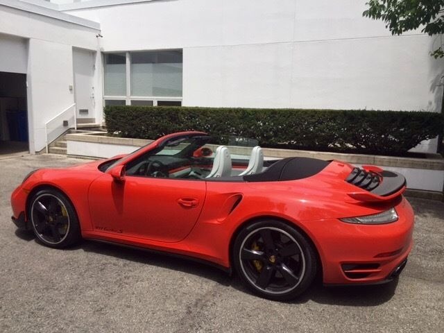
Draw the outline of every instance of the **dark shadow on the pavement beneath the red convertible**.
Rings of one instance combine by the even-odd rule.
[[[219,268],[194,262],[191,259],[173,257],[163,253],[153,253],[149,250],[139,248],[128,248],[114,244],[106,244],[96,241],[83,241],[82,244],[71,248],[73,250],[81,249],[87,252],[109,255],[119,259],[130,260],[142,264],[155,265],[173,271],[181,271],[188,274],[198,275],[201,278],[213,280],[227,287],[232,287],[243,293],[253,293],[244,286],[237,275],[222,271]],[[296,300],[289,303],[302,304],[309,300],[325,305],[345,305],[357,307],[374,307],[391,300],[395,294],[398,285],[398,279],[386,284],[368,285],[368,286],[344,286],[344,287],[325,287],[321,278],[316,278],[309,289],[299,296]]]

